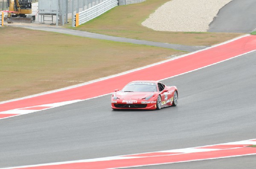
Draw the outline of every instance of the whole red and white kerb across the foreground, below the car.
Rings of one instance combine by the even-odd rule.
[[[256,147],[250,147],[251,145],[256,145],[256,139],[185,149],[172,149],[159,152],[147,152],[141,154],[120,155],[114,157],[46,163],[30,166],[17,166],[2,169],[116,169],[182,163],[256,155]]]

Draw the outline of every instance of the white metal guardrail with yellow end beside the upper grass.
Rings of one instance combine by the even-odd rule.
[[[96,6],[93,6],[84,11],[81,11],[75,14],[75,17],[74,17],[75,21],[73,22],[74,25],[72,26],[76,27],[78,25],[86,23],[87,21],[98,17],[99,15],[105,13],[111,8],[114,8],[115,6],[118,6],[118,0],[105,0],[102,3],[97,4]]]

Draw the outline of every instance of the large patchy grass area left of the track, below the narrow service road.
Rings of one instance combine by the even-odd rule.
[[[0,101],[59,89],[185,54],[166,48],[0,28]]]

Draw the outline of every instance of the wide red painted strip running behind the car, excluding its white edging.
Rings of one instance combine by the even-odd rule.
[[[256,49],[256,36],[246,36],[224,45],[216,46],[205,51],[200,51],[185,57],[181,57],[160,65],[137,70],[121,76],[116,76],[92,84],[71,88],[64,91],[49,93],[32,98],[3,103],[0,112],[19,109],[23,107],[33,107],[43,104],[51,104],[62,101],[78,99],[88,99],[113,92],[114,89],[121,89],[128,82],[134,80],[160,80],[181,73],[192,71],[207,65],[221,62],[226,59],[245,54]],[[157,74],[159,70],[161,74]],[[95,93],[95,91],[97,91]]]

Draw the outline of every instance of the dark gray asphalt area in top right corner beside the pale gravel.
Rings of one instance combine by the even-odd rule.
[[[256,29],[256,0],[233,0],[220,9],[209,32],[250,33]]]

